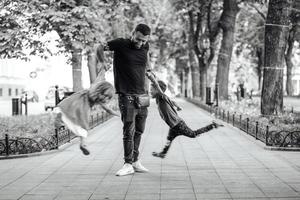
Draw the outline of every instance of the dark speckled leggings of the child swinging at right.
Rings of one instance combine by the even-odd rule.
[[[184,135],[186,137],[195,138],[202,133],[212,130],[213,128],[216,128],[216,125],[214,123],[193,131],[186,125],[186,123],[184,121],[181,121],[173,128],[170,128],[168,137],[167,137],[167,143],[164,146],[163,150],[160,152],[160,154],[167,154],[167,152],[172,144],[172,141],[177,136]]]

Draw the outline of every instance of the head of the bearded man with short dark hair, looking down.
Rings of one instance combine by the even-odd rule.
[[[137,49],[140,49],[145,45],[148,40],[151,33],[151,29],[146,24],[138,24],[134,32],[132,34],[131,41],[134,44],[134,47]]]

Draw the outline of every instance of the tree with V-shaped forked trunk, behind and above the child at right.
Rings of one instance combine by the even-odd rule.
[[[188,55],[192,73],[193,95],[202,99],[207,86],[207,70],[214,58],[216,38],[219,32],[220,5],[218,2],[194,0],[175,1],[174,7],[180,11],[187,24]]]

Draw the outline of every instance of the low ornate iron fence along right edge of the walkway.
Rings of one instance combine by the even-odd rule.
[[[264,125],[258,121],[251,121],[248,117],[243,115],[237,115],[236,113],[231,113],[219,107],[206,105],[199,100],[187,100],[210,113],[214,113],[216,118],[241,129],[255,139],[265,143],[266,146],[300,147],[300,131],[270,131],[268,125]]]

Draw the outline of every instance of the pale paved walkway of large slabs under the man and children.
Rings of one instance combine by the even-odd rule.
[[[191,128],[212,120],[193,104],[178,102]],[[264,150],[229,125],[196,139],[179,137],[165,159],[152,157],[168,131],[155,107],[141,143],[149,173],[115,176],[123,164],[122,125],[115,117],[92,130],[90,156],[76,143],[53,154],[0,160],[0,199],[300,199],[300,152]]]

